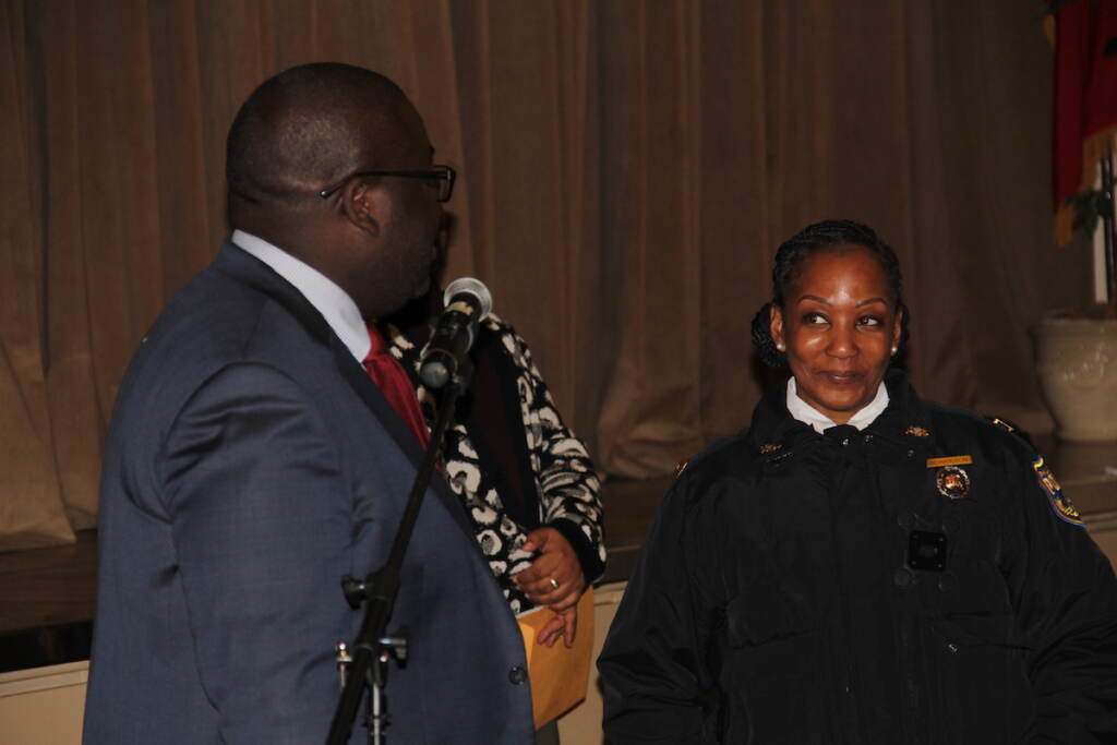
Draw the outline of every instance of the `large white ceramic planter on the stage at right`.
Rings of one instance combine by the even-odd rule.
[[[1056,434],[1117,441],[1117,321],[1046,318],[1035,328],[1035,352]]]

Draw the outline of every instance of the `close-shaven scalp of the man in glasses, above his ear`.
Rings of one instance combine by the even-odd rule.
[[[340,63],[300,65],[264,82],[229,130],[230,220],[236,227],[238,203],[289,210],[353,171],[376,168],[410,111],[386,77]]]

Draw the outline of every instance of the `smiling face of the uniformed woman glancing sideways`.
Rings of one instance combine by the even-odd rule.
[[[772,308],[772,338],[799,398],[844,424],[877,395],[900,340],[888,277],[868,249],[841,245],[803,259],[789,290]]]

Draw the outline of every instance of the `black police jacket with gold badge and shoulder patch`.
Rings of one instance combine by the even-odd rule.
[[[824,436],[773,391],[679,475],[599,661],[612,745],[1115,742],[1108,561],[1027,442],[886,385]]]

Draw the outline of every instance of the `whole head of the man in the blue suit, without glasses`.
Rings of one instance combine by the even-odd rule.
[[[442,207],[432,182],[350,176],[429,169],[431,153],[422,117],[384,76],[293,67],[254,90],[229,130],[229,223],[314,267],[378,318],[426,292]]]

